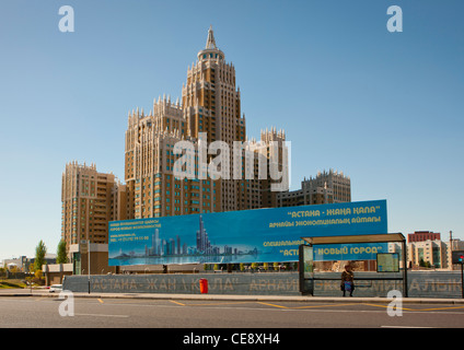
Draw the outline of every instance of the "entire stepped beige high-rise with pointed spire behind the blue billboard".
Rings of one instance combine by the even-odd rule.
[[[279,145],[269,152],[275,150],[267,143],[271,139]],[[179,141],[195,144],[194,178],[174,176],[174,163],[181,155],[173,151]],[[229,165],[221,163],[222,174],[228,176],[213,179],[207,174],[214,155],[207,154],[206,165],[201,164],[201,141],[207,145],[214,141],[229,145],[229,155],[224,155]],[[242,158],[234,159],[234,141],[243,142],[243,154],[246,151],[256,155],[251,164]],[[270,185],[275,180],[269,180],[269,164],[265,165],[267,176],[258,178],[257,156],[267,161],[272,152],[282,155],[283,142],[285,132],[277,135],[275,129],[262,133],[262,142],[248,141],[235,68],[225,61],[210,27],[206,47],[187,69],[182,104],[163,96],[153,102],[148,114],[141,108],[129,113],[125,149],[128,219],[272,207],[276,200]],[[272,162],[288,171],[282,158]],[[234,168],[242,170],[243,176],[234,179]],[[246,168],[251,168],[252,178],[245,178]]]

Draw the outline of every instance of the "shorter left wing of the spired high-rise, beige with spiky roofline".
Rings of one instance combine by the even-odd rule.
[[[165,96],[148,115],[129,115],[126,131],[125,178],[128,219],[159,218],[220,210],[220,186],[208,179],[174,176],[174,145],[190,137],[178,102]],[[198,158],[196,164],[198,164]],[[195,170],[198,175],[198,168]]]

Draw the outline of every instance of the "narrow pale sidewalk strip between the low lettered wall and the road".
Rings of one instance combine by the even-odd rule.
[[[59,298],[59,293],[46,291],[1,291],[1,296]],[[193,300],[193,301],[251,301],[251,302],[302,302],[302,303],[390,303],[387,298],[334,298],[334,296],[288,296],[288,295],[239,295],[239,294],[174,294],[174,293],[73,293],[74,298],[95,299],[141,299],[141,300]],[[405,298],[403,303],[415,304],[463,304],[464,299]]]

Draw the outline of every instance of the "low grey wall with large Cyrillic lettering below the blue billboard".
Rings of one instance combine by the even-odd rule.
[[[315,296],[341,296],[338,272],[317,273],[326,280],[314,282]],[[375,272],[356,273],[355,296],[386,296],[390,290],[403,290],[402,280],[369,280],[379,278]],[[199,280],[208,280],[210,294],[236,295],[301,295],[298,272],[259,273],[153,273],[91,276],[92,293],[175,293],[200,294]],[[363,280],[366,278],[366,280]],[[67,276],[63,289],[89,292],[86,276]],[[410,271],[408,272],[410,298],[461,299],[461,272]]]

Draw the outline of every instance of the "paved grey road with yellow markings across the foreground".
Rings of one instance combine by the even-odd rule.
[[[387,304],[259,301],[137,300],[74,298],[74,316],[62,301],[46,296],[0,298],[0,327],[60,328],[408,328],[464,327],[463,304],[403,304],[388,316]],[[69,311],[69,308],[63,308]]]

